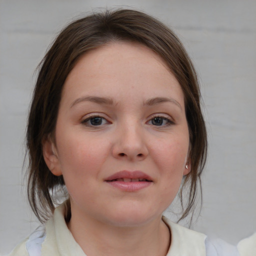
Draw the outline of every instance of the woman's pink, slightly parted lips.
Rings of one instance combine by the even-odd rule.
[[[126,181],[122,179],[126,179]],[[127,181],[127,179],[130,179],[130,181]],[[137,191],[151,185],[152,178],[139,170],[122,170],[108,176],[105,179],[105,182],[123,191]]]

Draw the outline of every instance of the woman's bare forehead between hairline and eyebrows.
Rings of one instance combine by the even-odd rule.
[[[158,54],[139,43],[115,42],[79,59],[65,80],[62,96],[109,96],[112,92],[116,96],[118,92],[153,97],[166,96],[166,91],[183,97],[178,81]]]

